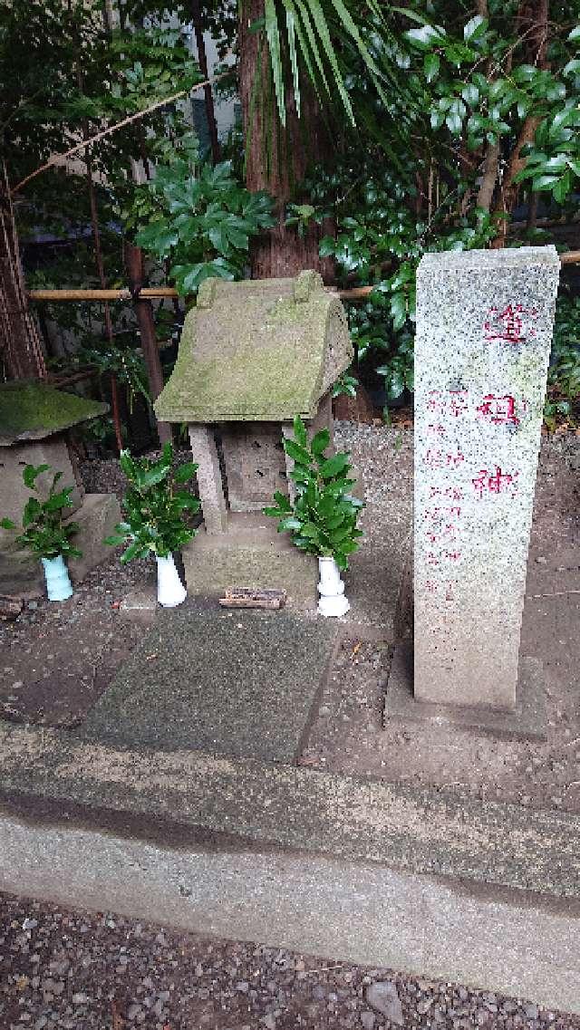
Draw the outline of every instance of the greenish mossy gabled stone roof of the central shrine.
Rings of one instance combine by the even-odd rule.
[[[346,312],[316,272],[207,279],[155,410],[168,422],[313,418],[352,356]]]

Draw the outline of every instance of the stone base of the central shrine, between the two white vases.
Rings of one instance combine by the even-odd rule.
[[[269,524],[271,523],[271,524]],[[218,596],[228,587],[283,589],[288,606],[317,604],[318,562],[276,533],[273,520],[259,513],[230,515],[228,533],[200,529],[182,550],[187,593]]]

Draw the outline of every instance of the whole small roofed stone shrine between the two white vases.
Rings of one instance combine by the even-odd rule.
[[[345,310],[315,272],[202,284],[155,404],[163,421],[187,423],[199,465],[205,528],[183,550],[191,594],[278,587],[314,605],[315,558],[262,509],[275,490],[292,495],[282,440],[296,415],[332,441],[332,387],[352,356]]]

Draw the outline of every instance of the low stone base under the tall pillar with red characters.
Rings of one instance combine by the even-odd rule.
[[[384,720],[451,724],[503,740],[546,741],[548,717],[543,663],[520,657],[513,712],[459,705],[434,705],[413,696],[413,648],[405,643],[395,648],[384,700]]]

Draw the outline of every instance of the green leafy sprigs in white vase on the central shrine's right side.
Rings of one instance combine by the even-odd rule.
[[[294,460],[291,478],[296,483],[296,500],[292,504],[277,490],[276,506],[265,508],[264,514],[279,519],[278,533],[288,531],[301,550],[334,557],[339,569],[347,569],[348,555],[359,549],[363,536],[356,520],[364,504],[349,492],[355,482],[348,478],[349,454],[327,458],[329,443],[328,430],[320,430],[309,442],[304,422],[295,418],[294,439],[284,440],[284,450]]]

